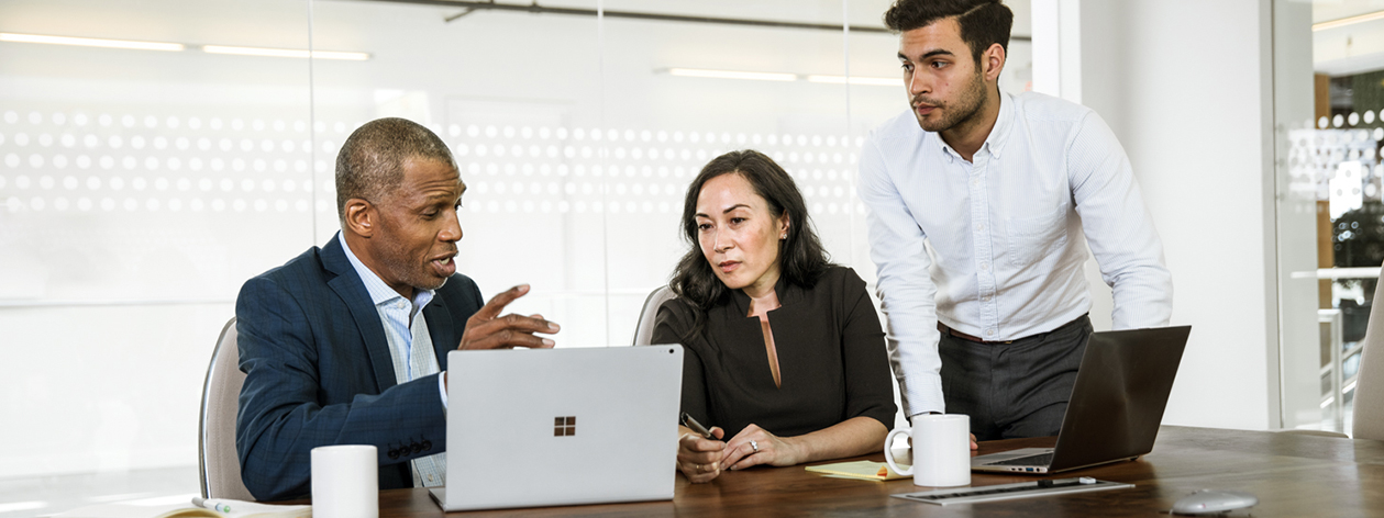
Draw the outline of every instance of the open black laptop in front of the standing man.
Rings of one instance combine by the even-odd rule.
[[[972,457],[972,471],[1059,472],[1151,452],[1190,333],[1190,326],[1092,333],[1057,446]]]

